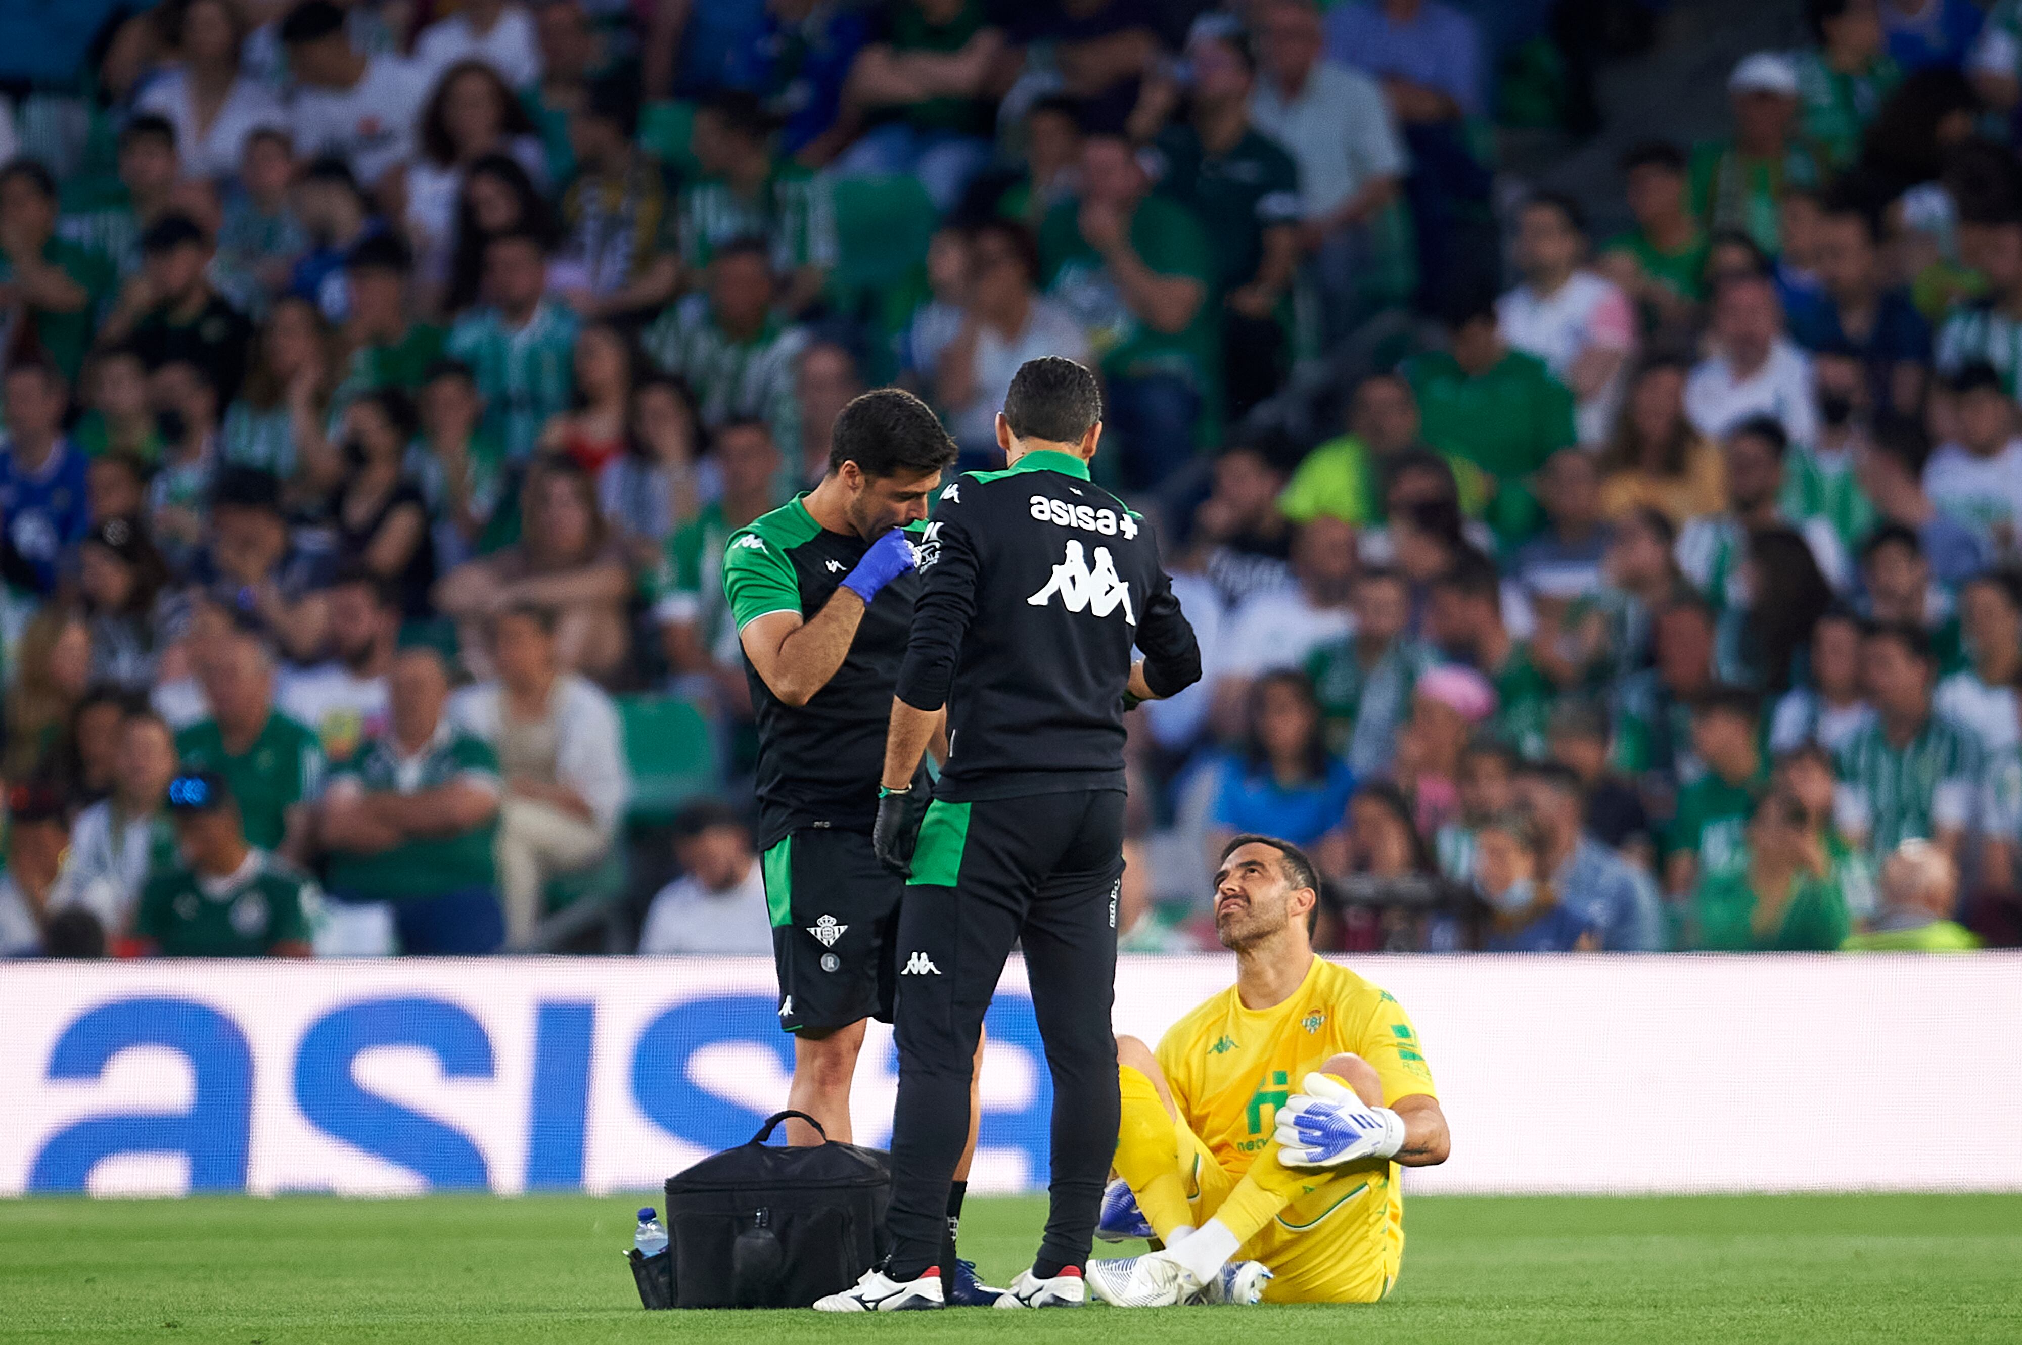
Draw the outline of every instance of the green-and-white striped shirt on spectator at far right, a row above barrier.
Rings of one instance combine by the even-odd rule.
[[[1943,715],[1925,719],[1901,749],[1889,743],[1876,719],[1840,751],[1834,800],[1840,830],[1864,838],[1876,858],[1905,840],[1965,830],[1984,802],[1980,765],[1980,743]]]

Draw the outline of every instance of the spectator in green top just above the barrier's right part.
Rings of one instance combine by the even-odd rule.
[[[1735,862],[1692,893],[1686,947],[1698,953],[1830,953],[1852,931],[1826,852],[1789,794],[1755,804]]]

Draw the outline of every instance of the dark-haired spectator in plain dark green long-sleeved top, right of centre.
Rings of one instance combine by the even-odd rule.
[[[1537,531],[1537,499],[1525,477],[1559,448],[1579,442],[1573,394],[1537,355],[1510,349],[1488,295],[1448,311],[1450,353],[1415,355],[1405,378],[1417,396],[1426,442],[1494,479],[1488,523],[1508,543]]]

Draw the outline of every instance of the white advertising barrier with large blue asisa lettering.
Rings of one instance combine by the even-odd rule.
[[[1363,957],[1454,1155],[1417,1192],[2022,1189],[2022,955]],[[1146,1040],[1231,957],[1124,957]],[[651,1189],[785,1105],[760,959],[0,965],[0,1194]],[[874,1024],[855,1139],[890,1131]],[[1045,1185],[1023,967],[973,1187]]]

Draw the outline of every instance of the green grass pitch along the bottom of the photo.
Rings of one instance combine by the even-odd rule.
[[[2022,1341],[2022,1196],[1423,1198],[1387,1303],[1128,1321],[643,1313],[619,1258],[631,1206],[0,1202],[0,1341]],[[1003,1282],[1041,1216],[1035,1200],[973,1200],[964,1252]]]

